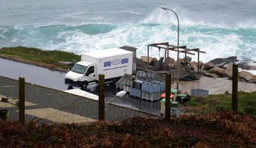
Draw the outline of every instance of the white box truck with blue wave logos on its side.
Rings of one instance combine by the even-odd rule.
[[[132,52],[113,48],[96,50],[81,55],[65,76],[65,84],[85,90],[88,84],[98,83],[98,75],[105,75],[105,83],[113,83],[125,73],[132,74]]]

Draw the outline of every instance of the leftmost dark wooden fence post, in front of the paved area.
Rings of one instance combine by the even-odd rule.
[[[25,78],[19,78],[19,121],[25,123]]]

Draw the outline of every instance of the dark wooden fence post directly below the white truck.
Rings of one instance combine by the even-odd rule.
[[[99,75],[99,120],[105,120],[105,75]]]

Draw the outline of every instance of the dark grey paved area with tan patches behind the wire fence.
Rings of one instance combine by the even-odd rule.
[[[19,98],[19,81],[0,76],[0,94],[9,96],[12,99]],[[35,117],[40,117],[41,121],[60,121],[65,118],[66,123],[85,122],[98,120],[98,101],[76,96],[67,92],[42,86],[25,84],[25,101],[34,105],[25,106],[25,119],[31,121]],[[36,105],[35,105],[36,104]],[[0,109],[8,109],[11,119],[19,120],[18,107],[15,105],[0,105]],[[36,113],[31,113],[35,110]],[[53,112],[54,110],[54,112]],[[38,114],[39,113],[39,114]],[[129,117],[156,117],[149,113],[127,109],[114,104],[105,105],[105,119],[108,121],[124,120]],[[77,117],[81,117],[81,120]],[[58,120],[54,120],[54,118]],[[77,118],[77,120],[74,120]]]

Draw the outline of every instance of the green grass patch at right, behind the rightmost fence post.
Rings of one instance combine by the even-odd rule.
[[[194,113],[229,111],[232,110],[232,94],[192,97],[191,101],[184,104],[184,110]],[[238,112],[256,115],[256,92],[238,92]]]

